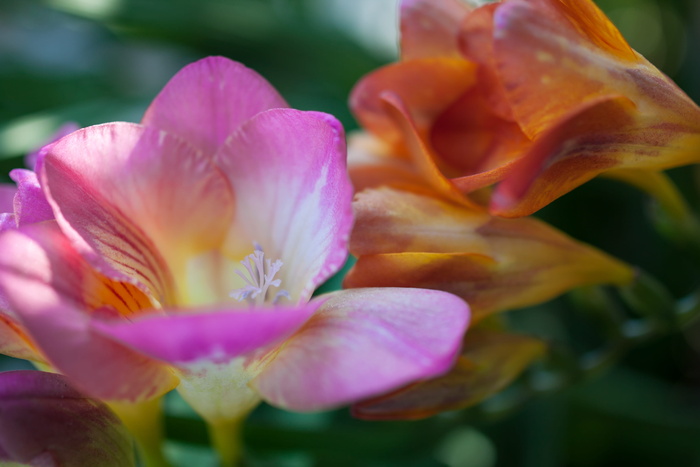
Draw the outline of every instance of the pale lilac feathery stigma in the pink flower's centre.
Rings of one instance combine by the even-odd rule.
[[[275,275],[284,263],[279,259],[275,262],[266,259],[259,244],[255,243],[255,250],[246,256],[241,264],[245,267],[245,271],[239,269],[236,274],[245,281],[246,285],[231,292],[231,297],[239,302],[245,300],[250,305],[262,305],[265,302],[275,304],[283,297],[290,298],[286,290],[279,290],[271,296],[270,287],[278,288],[282,283],[281,279],[275,279]]]

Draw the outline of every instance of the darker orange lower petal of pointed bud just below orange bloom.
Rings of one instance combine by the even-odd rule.
[[[522,243],[525,249],[528,243]],[[361,256],[343,285],[444,290],[467,300],[474,320],[479,321],[495,312],[542,303],[575,287],[625,284],[632,279],[628,266],[592,248],[567,252],[565,248],[538,245],[534,249],[540,250],[546,253],[542,259],[524,257],[520,264],[473,253]]]

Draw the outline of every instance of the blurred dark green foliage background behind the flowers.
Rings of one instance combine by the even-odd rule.
[[[599,5],[700,101],[700,1]],[[65,121],[139,121],[177,70],[207,55],[245,63],[293,107],[332,113],[354,129],[348,93],[396,58],[396,22],[394,0],[0,0],[0,177],[9,181],[7,171]],[[697,208],[695,168],[671,175]],[[650,227],[647,209],[634,189],[595,180],[539,215],[685,295],[700,283],[700,264]],[[572,314],[562,298],[513,319],[549,340],[576,342],[588,331]],[[699,352],[700,325],[690,326],[499,417],[468,410],[369,423],[344,410],[261,407],[245,441],[261,466],[700,466]],[[215,465],[201,423],[176,397],[168,412],[168,449],[179,465]]]

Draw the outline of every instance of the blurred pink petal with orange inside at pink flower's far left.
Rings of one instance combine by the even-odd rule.
[[[138,290],[118,295],[116,288],[128,284],[99,276],[54,223],[3,233],[0,251],[8,252],[0,256],[0,293],[51,365],[76,387],[100,399],[142,400],[177,384],[164,365],[93,331],[91,312],[119,314],[116,307],[136,301]]]

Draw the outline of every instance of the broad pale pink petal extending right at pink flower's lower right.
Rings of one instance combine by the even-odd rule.
[[[253,381],[274,405],[327,409],[440,375],[469,321],[464,301],[435,290],[351,289],[323,298]]]

